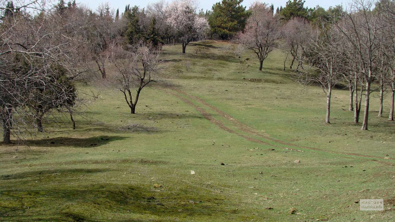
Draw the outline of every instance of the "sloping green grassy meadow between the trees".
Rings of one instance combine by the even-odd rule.
[[[135,115],[121,92],[83,86],[100,94],[76,130],[64,117],[0,147],[0,221],[395,221],[389,98],[377,117],[372,94],[361,131],[336,89],[325,124],[324,92],[282,71],[281,51],[263,71],[235,51],[164,46],[171,87],[143,89]],[[361,211],[360,199],[384,199],[384,211]]]

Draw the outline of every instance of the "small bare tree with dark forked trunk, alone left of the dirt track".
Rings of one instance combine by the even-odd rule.
[[[135,114],[141,90],[158,80],[161,50],[140,41],[128,46],[127,50],[119,44],[112,44],[108,53],[116,71],[107,79],[107,87],[121,91],[130,107],[130,113]],[[132,93],[134,88],[135,94]]]

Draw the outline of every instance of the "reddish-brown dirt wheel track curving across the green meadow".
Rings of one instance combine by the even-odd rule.
[[[380,156],[363,155],[363,154],[357,154],[357,153],[344,153],[344,152],[326,151],[326,150],[322,150],[322,149],[318,149],[318,148],[314,148],[314,147],[299,146],[299,145],[295,145],[295,144],[292,144],[292,143],[287,143],[287,142],[284,142],[284,141],[280,141],[278,139],[273,139],[269,135],[267,135],[267,134],[265,134],[263,132],[259,132],[258,130],[248,126],[247,124],[240,122],[239,120],[233,118],[231,115],[225,113],[224,111],[219,110],[217,107],[205,102],[204,100],[202,100],[201,98],[199,98],[197,96],[190,95],[190,94],[188,94],[186,92],[183,92],[181,90],[175,90],[175,89],[167,90],[167,89],[164,89],[164,88],[159,88],[159,89],[164,90],[168,94],[171,94],[171,95],[179,98],[183,102],[191,105],[199,113],[201,113],[201,115],[203,115],[203,117],[205,119],[209,120],[210,122],[213,122],[216,126],[221,128],[222,130],[225,130],[225,131],[227,131],[229,133],[232,133],[232,134],[236,134],[236,135],[238,135],[240,137],[243,137],[243,138],[247,139],[248,141],[252,141],[252,142],[255,142],[255,143],[268,145],[268,146],[271,146],[271,147],[280,147],[279,145],[286,145],[286,146],[289,146],[289,147],[292,147],[292,148],[297,148],[297,149],[308,149],[308,150],[327,152],[327,153],[333,153],[333,154],[341,154],[341,155],[348,155],[348,156],[372,158],[370,161],[374,161],[374,162],[378,162],[378,163],[382,163],[382,164],[386,164],[386,165],[390,165],[390,166],[394,166],[395,165],[395,164],[392,164],[391,162],[377,160],[377,159],[395,160],[395,158],[384,158],[384,157],[380,157]],[[187,98],[185,98],[185,97],[187,97]],[[196,101],[196,102],[200,103],[201,106],[194,104],[193,101]],[[221,122],[220,120],[215,119],[213,117],[213,115],[211,115],[210,113],[207,113],[202,107],[206,107],[206,108],[209,108],[209,109],[215,111],[219,116],[223,117],[224,119],[229,120],[231,125],[234,126],[235,128],[237,128],[237,130],[239,130],[241,132],[244,132],[245,134],[258,136],[258,137],[261,137],[264,140],[271,141],[271,142],[277,143],[279,145],[268,143],[268,142],[265,142],[263,140],[256,139],[254,137],[251,137],[251,136],[248,136],[248,135],[236,132],[235,130],[232,130],[231,128],[225,126],[224,123]]]

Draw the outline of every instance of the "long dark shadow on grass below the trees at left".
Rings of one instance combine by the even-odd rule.
[[[122,136],[100,135],[89,138],[54,137],[26,140],[26,145],[36,147],[97,147],[111,141],[127,139]]]

